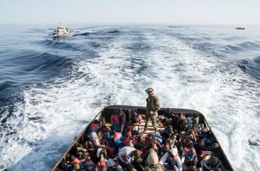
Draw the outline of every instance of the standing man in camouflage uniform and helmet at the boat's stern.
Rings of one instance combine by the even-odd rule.
[[[148,122],[151,118],[153,127],[155,128],[155,133],[157,132],[157,117],[159,111],[160,104],[159,99],[155,94],[153,94],[153,88],[148,88],[145,90],[148,94],[148,98],[146,98],[146,114],[145,114],[145,126],[144,131],[146,131],[148,127]]]

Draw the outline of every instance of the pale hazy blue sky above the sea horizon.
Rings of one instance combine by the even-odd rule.
[[[0,24],[260,25],[260,0],[1,0]]]

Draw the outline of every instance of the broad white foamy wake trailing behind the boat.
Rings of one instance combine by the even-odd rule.
[[[10,124],[16,120],[22,127],[1,148],[0,166],[49,170],[102,107],[144,106],[144,90],[153,87],[162,107],[205,114],[235,170],[260,170],[259,147],[248,144],[259,140],[259,83],[168,29],[137,30],[95,37],[106,44],[95,49],[99,57],[75,61],[64,77],[24,90],[25,103],[16,103],[16,119],[10,118]]]

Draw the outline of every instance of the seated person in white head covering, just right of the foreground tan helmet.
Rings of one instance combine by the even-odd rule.
[[[166,152],[160,159],[159,163],[164,165],[164,163],[168,163],[166,167],[170,170],[183,170],[183,165],[181,163],[181,159],[179,157],[179,153],[177,148],[171,148],[168,152]],[[177,166],[176,166],[177,163]]]

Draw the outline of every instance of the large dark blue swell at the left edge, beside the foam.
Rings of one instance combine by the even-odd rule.
[[[1,61],[0,92],[54,77],[72,64],[66,56],[32,50],[6,53]]]

